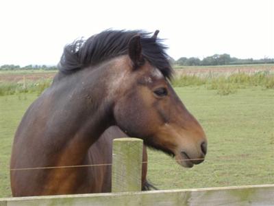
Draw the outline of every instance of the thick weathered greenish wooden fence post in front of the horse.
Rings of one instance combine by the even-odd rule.
[[[119,138],[112,146],[112,192],[138,192],[142,187],[142,139]]]

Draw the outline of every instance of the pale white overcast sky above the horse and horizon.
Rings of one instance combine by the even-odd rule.
[[[1,0],[0,65],[57,65],[64,45],[110,28],[160,30],[175,60],[274,58],[273,0]]]

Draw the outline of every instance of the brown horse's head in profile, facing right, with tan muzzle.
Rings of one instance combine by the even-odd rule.
[[[151,45],[157,44],[157,34],[151,37]],[[127,66],[114,101],[115,122],[127,135],[143,139],[147,146],[175,156],[177,163],[191,168],[205,158],[206,134],[171,87],[169,72],[164,71],[170,68],[151,63],[159,55],[153,56],[157,49],[148,56],[142,52],[143,45],[139,34],[129,41]],[[162,56],[158,64],[169,67]]]

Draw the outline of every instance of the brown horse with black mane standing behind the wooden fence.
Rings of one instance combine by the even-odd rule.
[[[97,174],[84,165],[92,164],[89,148],[110,126],[186,168],[203,162],[206,133],[171,87],[173,69],[157,36],[105,30],[64,47],[53,83],[14,135],[13,196],[96,192]]]

